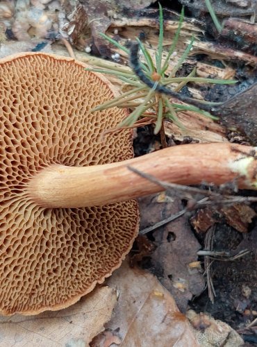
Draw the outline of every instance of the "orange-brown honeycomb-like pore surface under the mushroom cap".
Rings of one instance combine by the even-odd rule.
[[[113,91],[69,58],[24,53],[0,60],[0,90],[0,312],[58,310],[119,266],[137,232],[138,206],[45,209],[27,186],[54,163],[131,158],[131,131],[101,137],[126,113],[90,112]]]

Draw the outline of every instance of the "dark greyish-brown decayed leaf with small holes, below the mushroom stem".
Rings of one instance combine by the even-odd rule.
[[[156,196],[140,198],[141,229],[152,226],[183,210],[181,198],[169,194],[169,200],[158,203]],[[188,301],[204,290],[205,282],[199,271],[190,271],[189,264],[197,261],[201,248],[194,237],[188,217],[181,217],[158,228],[153,233],[156,250],[151,253],[151,272],[172,293],[179,310],[185,312]]]

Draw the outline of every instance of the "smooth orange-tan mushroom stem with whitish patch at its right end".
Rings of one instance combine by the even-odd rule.
[[[28,190],[33,201],[44,208],[104,205],[163,190],[128,166],[170,183],[220,185],[237,179],[238,187],[257,189],[255,150],[238,144],[185,144],[112,164],[54,164],[40,171]]]

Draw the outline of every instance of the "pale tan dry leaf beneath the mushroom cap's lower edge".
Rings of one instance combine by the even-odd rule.
[[[65,310],[0,317],[0,347],[87,347],[110,319],[116,301],[115,290],[101,287]]]

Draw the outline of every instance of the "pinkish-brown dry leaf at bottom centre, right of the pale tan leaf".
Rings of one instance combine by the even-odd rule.
[[[105,326],[118,332],[120,347],[198,346],[188,319],[151,273],[131,269],[125,261],[107,282],[119,299]]]

